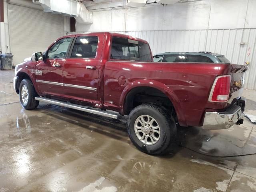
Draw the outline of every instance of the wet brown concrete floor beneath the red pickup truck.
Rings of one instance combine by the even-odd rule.
[[[256,125],[178,128],[170,154],[138,151],[125,120],[40,103],[24,110],[0,71],[0,192],[256,191]],[[244,90],[256,115],[256,92]]]

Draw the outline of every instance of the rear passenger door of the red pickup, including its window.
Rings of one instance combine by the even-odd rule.
[[[97,98],[98,74],[104,45],[104,35],[77,35],[63,69],[63,86],[68,98],[100,103]]]

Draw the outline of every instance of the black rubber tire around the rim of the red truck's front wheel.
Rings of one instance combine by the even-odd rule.
[[[22,100],[22,87],[26,86],[27,92],[28,92],[28,100],[27,102],[24,102]],[[32,84],[32,82],[29,79],[23,79],[20,82],[20,88],[19,88],[19,96],[20,96],[20,104],[23,108],[27,110],[35,109],[37,108],[39,101],[35,100],[35,97],[37,96],[36,90]]]

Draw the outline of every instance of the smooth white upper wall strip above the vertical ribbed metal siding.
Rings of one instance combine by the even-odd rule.
[[[91,10],[94,22],[77,31],[256,28],[256,0],[199,0],[162,6]]]

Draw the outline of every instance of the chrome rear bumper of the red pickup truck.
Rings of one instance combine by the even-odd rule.
[[[242,98],[242,101],[245,100]],[[232,105],[224,112],[206,112],[203,129],[227,129],[241,120],[244,116],[244,107]]]

